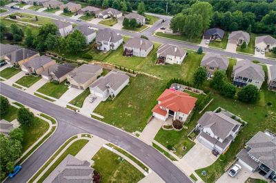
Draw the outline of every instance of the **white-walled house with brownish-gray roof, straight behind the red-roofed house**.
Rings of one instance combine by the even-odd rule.
[[[186,50],[177,45],[164,44],[157,50],[157,64],[181,64],[186,56]]]

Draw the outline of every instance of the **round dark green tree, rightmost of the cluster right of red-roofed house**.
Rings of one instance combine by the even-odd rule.
[[[259,89],[255,85],[247,85],[239,91],[237,97],[243,103],[257,103],[257,100],[259,100]]]

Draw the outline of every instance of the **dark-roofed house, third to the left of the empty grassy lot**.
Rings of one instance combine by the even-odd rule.
[[[41,76],[46,80],[57,80],[59,83],[61,83],[63,80],[66,80],[66,75],[75,69],[75,67],[75,65],[70,63],[55,63],[54,65],[48,67],[48,69],[45,69],[41,73]]]

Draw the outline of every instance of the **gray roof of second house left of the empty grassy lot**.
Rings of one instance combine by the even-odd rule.
[[[99,65],[83,64],[73,69],[68,75],[77,83],[84,84],[90,80],[90,78],[94,77],[101,69],[102,67]]]

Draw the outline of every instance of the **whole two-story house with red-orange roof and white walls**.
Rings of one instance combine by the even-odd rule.
[[[163,121],[172,116],[173,120],[185,122],[193,111],[197,98],[185,92],[166,89],[157,101],[158,104],[152,109],[152,116]]]

